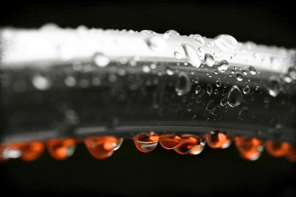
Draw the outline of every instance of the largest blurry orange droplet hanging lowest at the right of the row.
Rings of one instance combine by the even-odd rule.
[[[235,145],[241,157],[250,161],[259,159],[263,151],[261,141],[255,137],[235,137]]]

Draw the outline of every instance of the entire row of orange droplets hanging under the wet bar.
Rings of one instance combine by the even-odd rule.
[[[268,154],[275,157],[284,156],[292,162],[296,162],[296,146],[286,142],[261,141],[255,137],[231,137],[225,132],[213,131],[207,135],[197,136],[191,134],[162,134],[154,132],[140,133],[133,137],[138,150],[148,153],[155,149],[158,142],[165,149],[174,149],[181,155],[197,155],[201,153],[207,144],[211,148],[227,148],[231,141],[235,142],[240,156],[246,160],[257,160],[265,147]],[[97,159],[110,157],[117,150],[123,138],[114,136],[92,136],[83,139],[90,154]],[[0,161],[10,158],[21,158],[24,161],[37,159],[44,150],[46,144],[49,154],[57,159],[64,160],[74,154],[76,143],[73,138],[49,139],[46,142],[30,141],[20,143],[6,143],[0,145]]]

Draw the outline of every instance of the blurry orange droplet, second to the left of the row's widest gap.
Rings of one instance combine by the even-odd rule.
[[[51,157],[57,160],[65,160],[74,154],[76,148],[75,140],[72,138],[49,139],[47,150]]]

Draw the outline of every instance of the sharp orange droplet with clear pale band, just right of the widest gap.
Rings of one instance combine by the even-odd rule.
[[[156,148],[159,136],[154,132],[140,133],[134,136],[133,139],[139,151],[148,153]]]

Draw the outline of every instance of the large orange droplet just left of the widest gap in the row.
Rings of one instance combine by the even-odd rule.
[[[114,149],[117,150],[120,146],[117,146],[119,141],[113,136],[93,136],[87,137],[83,141],[89,153],[96,159],[110,157],[113,154]]]

